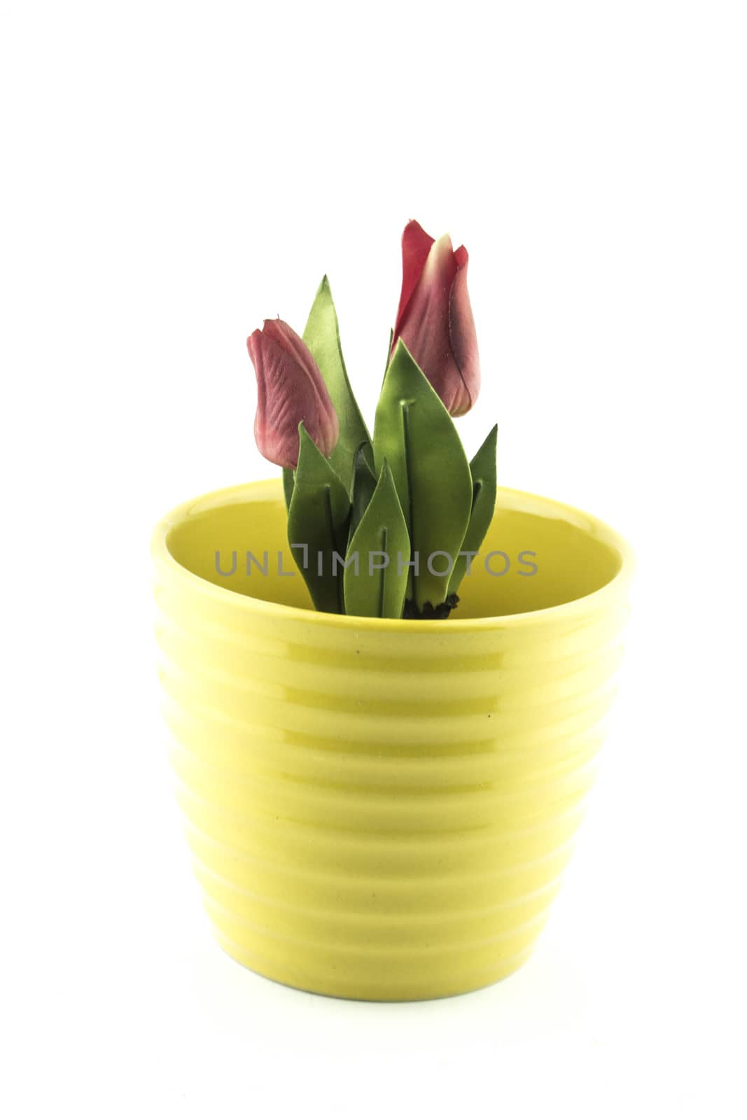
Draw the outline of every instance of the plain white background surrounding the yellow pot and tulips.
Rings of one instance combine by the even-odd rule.
[[[1,3],[9,1118],[745,1116],[745,8]],[[410,217],[470,252],[504,485],[638,554],[534,958],[375,1006],[214,945],[151,525],[274,468],[244,339],[329,273],[368,417]]]

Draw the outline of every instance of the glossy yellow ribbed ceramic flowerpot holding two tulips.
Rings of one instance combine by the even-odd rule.
[[[251,557],[248,573],[248,552],[267,575]],[[153,556],[178,799],[226,952],[296,988],[376,1000],[517,969],[592,782],[625,542],[499,489],[445,622],[309,609],[300,576],[282,575],[277,482],[185,503]]]

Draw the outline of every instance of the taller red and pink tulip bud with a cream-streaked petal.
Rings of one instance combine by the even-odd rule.
[[[467,250],[448,234],[435,241],[417,222],[402,234],[402,295],[392,351],[401,338],[452,417],[479,392],[479,357],[469,296]]]

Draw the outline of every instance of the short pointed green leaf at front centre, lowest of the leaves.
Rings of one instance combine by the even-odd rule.
[[[357,571],[354,558],[357,556]],[[401,618],[408,586],[410,538],[387,463],[361,524],[345,568],[345,612],[365,618]],[[381,567],[383,566],[383,567]]]

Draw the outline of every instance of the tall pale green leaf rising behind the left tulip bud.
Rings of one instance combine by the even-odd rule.
[[[337,447],[329,456],[333,468],[348,494],[353,489],[355,452],[363,445],[366,448],[368,465],[373,467],[373,450],[371,436],[365,426],[361,410],[356,403],[351,383],[347,379],[345,361],[339,343],[337,312],[332,298],[327,277],[319,284],[316,298],[311,305],[309,318],[304,330],[304,342],[311,351],[319,366],[325,384],[329,390],[332,403],[339,422],[339,439]]]

